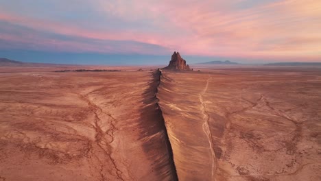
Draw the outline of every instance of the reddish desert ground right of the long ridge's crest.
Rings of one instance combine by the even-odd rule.
[[[320,69],[207,71],[163,71],[179,180],[321,180]]]

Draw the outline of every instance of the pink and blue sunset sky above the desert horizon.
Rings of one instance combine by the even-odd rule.
[[[320,0],[0,0],[0,57],[32,62],[321,62]]]

